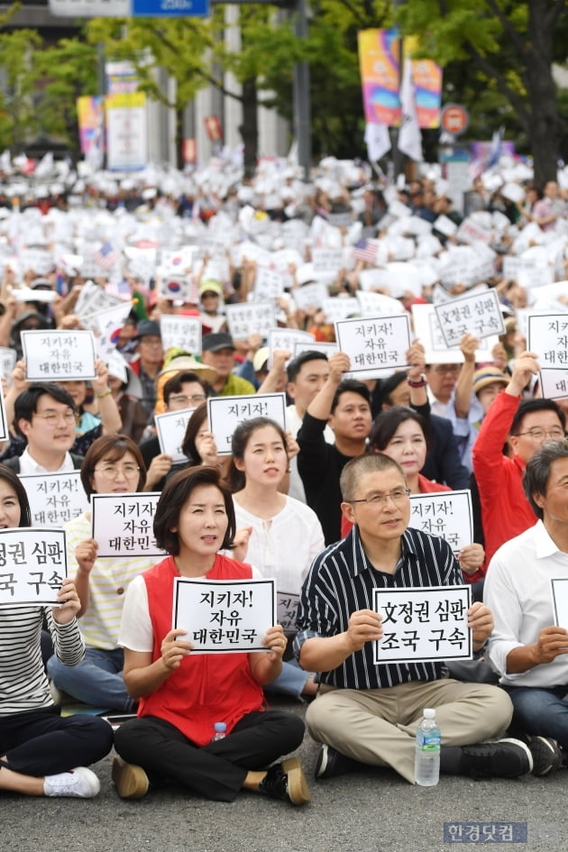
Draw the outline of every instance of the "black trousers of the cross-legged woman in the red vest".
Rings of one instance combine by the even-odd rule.
[[[207,799],[233,802],[249,770],[288,755],[303,737],[303,720],[282,710],[248,713],[224,739],[202,747],[164,719],[142,716],[118,728],[115,750],[127,763],[142,766],[151,781],[183,784]]]

